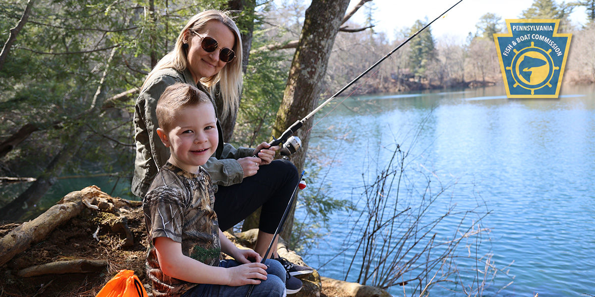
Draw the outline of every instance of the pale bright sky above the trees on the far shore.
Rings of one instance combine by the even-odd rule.
[[[352,0],[349,11],[359,0]],[[393,40],[395,31],[404,27],[411,27],[416,20],[432,21],[446,11],[458,0],[373,0],[374,14],[377,25],[375,30],[383,31],[388,39]],[[562,1],[556,1],[560,3]],[[566,1],[568,2],[568,1]],[[506,18],[519,18],[522,11],[531,7],[533,0],[463,0],[450,10],[443,18],[436,20],[431,26],[433,36],[438,40],[452,40],[464,43],[469,32],[475,33],[475,24],[481,15],[492,12],[502,17],[502,24]],[[364,23],[364,9],[359,10],[352,18],[356,23]],[[575,24],[585,24],[587,17],[583,7],[576,7],[571,14],[571,21]]]

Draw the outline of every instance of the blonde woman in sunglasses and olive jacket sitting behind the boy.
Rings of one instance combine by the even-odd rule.
[[[167,86],[187,83],[210,95],[219,119],[237,113],[242,87],[242,42],[239,29],[226,12],[208,10],[188,21],[167,53],[149,73],[136,102],[134,140],[136,160],[132,192],[144,197],[157,170],[164,165],[169,151],[156,134],[155,107]],[[220,92],[215,102],[215,87]],[[227,230],[262,206],[255,251],[264,256],[283,211],[299,177],[292,163],[273,160],[278,146],[259,144],[256,149],[234,148],[223,142],[217,122],[219,146],[203,166],[215,185],[215,212],[221,230]],[[253,157],[258,153],[258,157]],[[277,242],[274,242],[274,247]],[[293,277],[311,273],[309,267],[295,266],[278,257],[292,275],[287,293],[297,292],[302,284]]]

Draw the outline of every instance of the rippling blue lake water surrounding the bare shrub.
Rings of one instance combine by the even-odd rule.
[[[473,208],[478,201],[491,211],[482,221],[490,232],[480,251],[490,252],[495,266],[508,266],[509,275],[496,274],[487,296],[510,282],[498,296],[595,295],[593,87],[563,87],[559,99],[506,99],[501,86],[349,97],[312,129],[310,147],[320,149],[320,162],[330,163],[317,181],[361,209],[361,190],[353,188],[383,168],[396,144],[411,150],[413,171],[456,182],[431,214],[455,203],[459,210]],[[322,276],[345,276],[355,249],[346,246],[350,222],[346,211],[334,213],[330,232],[304,252]],[[452,236],[457,223],[445,221],[434,230],[437,238]],[[399,296],[398,290],[391,292]],[[437,296],[450,295],[443,290]]]

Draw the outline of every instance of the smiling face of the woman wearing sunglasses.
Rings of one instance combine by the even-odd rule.
[[[187,32],[188,68],[196,83],[203,77],[211,77],[218,74],[221,68],[227,64],[219,59],[221,49],[233,49],[235,45],[233,32],[217,20],[208,21],[204,29],[198,33],[202,37],[209,36],[217,40],[218,48],[213,52],[206,52],[201,47],[202,37],[190,31]]]

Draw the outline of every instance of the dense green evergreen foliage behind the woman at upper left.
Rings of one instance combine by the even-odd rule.
[[[49,162],[68,150],[74,156],[49,178],[117,173],[114,182],[129,184],[138,93],[114,96],[141,86],[152,63],[173,48],[190,16],[226,3],[37,0],[0,69],[1,140],[26,124],[39,129],[0,159],[0,175],[43,176]],[[3,40],[25,4],[0,2]],[[24,185],[30,184],[2,189],[1,200],[11,200]],[[77,189],[56,192],[54,199]]]

